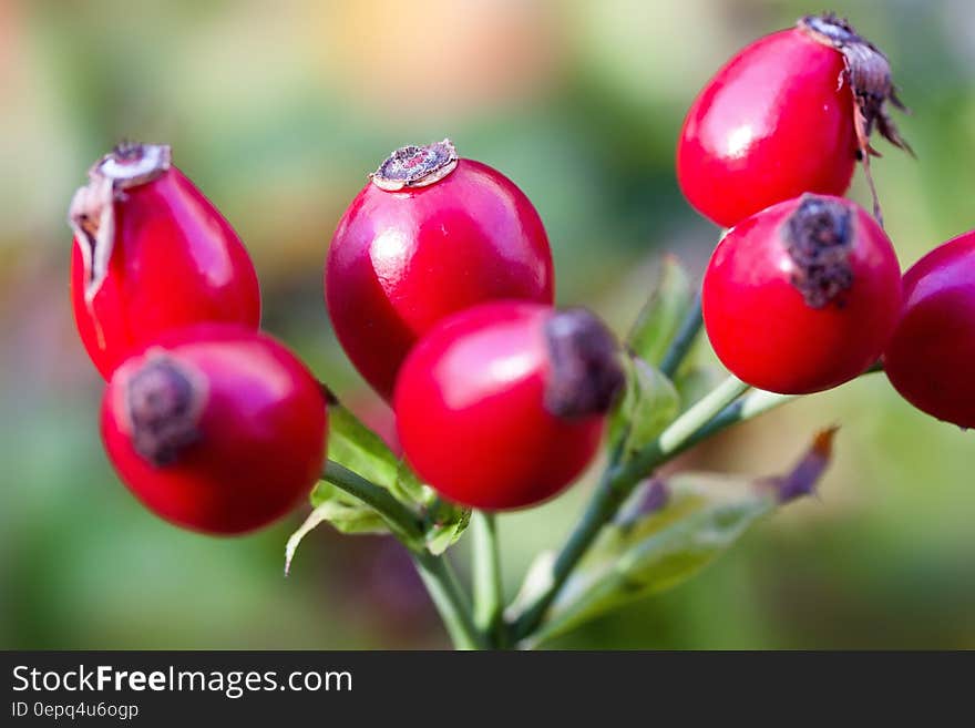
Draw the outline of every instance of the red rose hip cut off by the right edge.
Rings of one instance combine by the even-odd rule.
[[[975,428],[975,230],[904,275],[904,309],[884,355],[891,383],[932,417]]]

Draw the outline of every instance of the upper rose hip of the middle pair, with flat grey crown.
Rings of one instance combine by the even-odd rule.
[[[527,197],[449,141],[386,160],[331,240],[325,295],[339,341],[384,399],[417,339],[495,299],[553,300],[552,253]]]

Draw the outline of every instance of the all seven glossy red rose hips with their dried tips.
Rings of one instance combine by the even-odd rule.
[[[884,351],[918,408],[975,425],[975,234],[902,281],[874,217],[842,198],[876,130],[907,148],[886,58],[832,14],[761,39],[701,91],[677,150],[690,203],[731,229],[702,283],[708,336],[746,382],[801,394]],[[315,483],[327,416],[316,379],[257,331],[257,277],[166,146],[102,158],[71,205],[72,298],[110,378],[102,430],[122,479],[181,525],[237,533]],[[872,183],[871,183],[872,184]],[[396,410],[407,460],[447,499],[513,509],[594,459],[623,386],[592,314],[553,308],[548,239],[528,198],[444,140],[393,152],[346,211],[325,298],[339,341]]]

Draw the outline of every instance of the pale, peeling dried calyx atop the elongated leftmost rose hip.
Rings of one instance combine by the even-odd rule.
[[[95,162],[89,183],[71,199],[68,224],[74,230],[84,258],[84,298],[91,305],[104,281],[115,239],[114,202],[125,189],[147,184],[172,166],[172,152],[164,144],[124,142]]]

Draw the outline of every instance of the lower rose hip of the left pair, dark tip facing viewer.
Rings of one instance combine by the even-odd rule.
[[[102,401],[102,438],[129,489],[177,525],[267,525],[318,480],[327,416],[318,381],[246,327],[173,329],[126,359]]]

